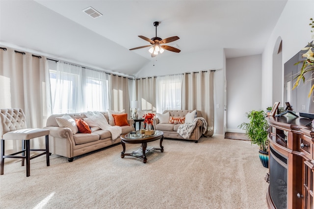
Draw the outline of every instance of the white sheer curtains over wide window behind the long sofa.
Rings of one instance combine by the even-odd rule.
[[[53,114],[107,111],[108,75],[64,62],[49,61]]]

